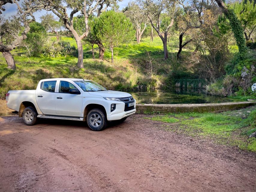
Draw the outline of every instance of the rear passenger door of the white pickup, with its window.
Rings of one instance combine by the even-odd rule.
[[[36,90],[36,101],[39,109],[44,114],[56,114],[56,80],[43,81]]]

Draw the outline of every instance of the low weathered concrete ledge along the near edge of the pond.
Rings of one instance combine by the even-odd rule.
[[[222,112],[237,110],[256,104],[256,101],[211,103],[211,104],[136,104],[138,113],[159,112],[159,113],[187,113],[187,112]]]

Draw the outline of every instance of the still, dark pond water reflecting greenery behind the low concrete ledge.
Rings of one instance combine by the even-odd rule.
[[[240,101],[237,99],[211,96],[203,93],[201,89],[174,88],[168,91],[156,92],[130,92],[137,104],[202,104],[225,103]]]

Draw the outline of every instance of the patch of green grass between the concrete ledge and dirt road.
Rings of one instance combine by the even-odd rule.
[[[219,144],[238,146],[239,149],[256,152],[256,139],[248,135],[256,131],[256,110],[246,119],[224,113],[169,113],[145,117],[153,121],[173,123],[175,129],[166,128],[178,134],[209,138]]]

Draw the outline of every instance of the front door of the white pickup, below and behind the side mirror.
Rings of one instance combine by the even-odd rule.
[[[70,94],[69,89],[76,88],[67,81],[59,82],[59,92],[56,93],[56,113],[58,115],[81,116],[82,93],[79,95]]]

